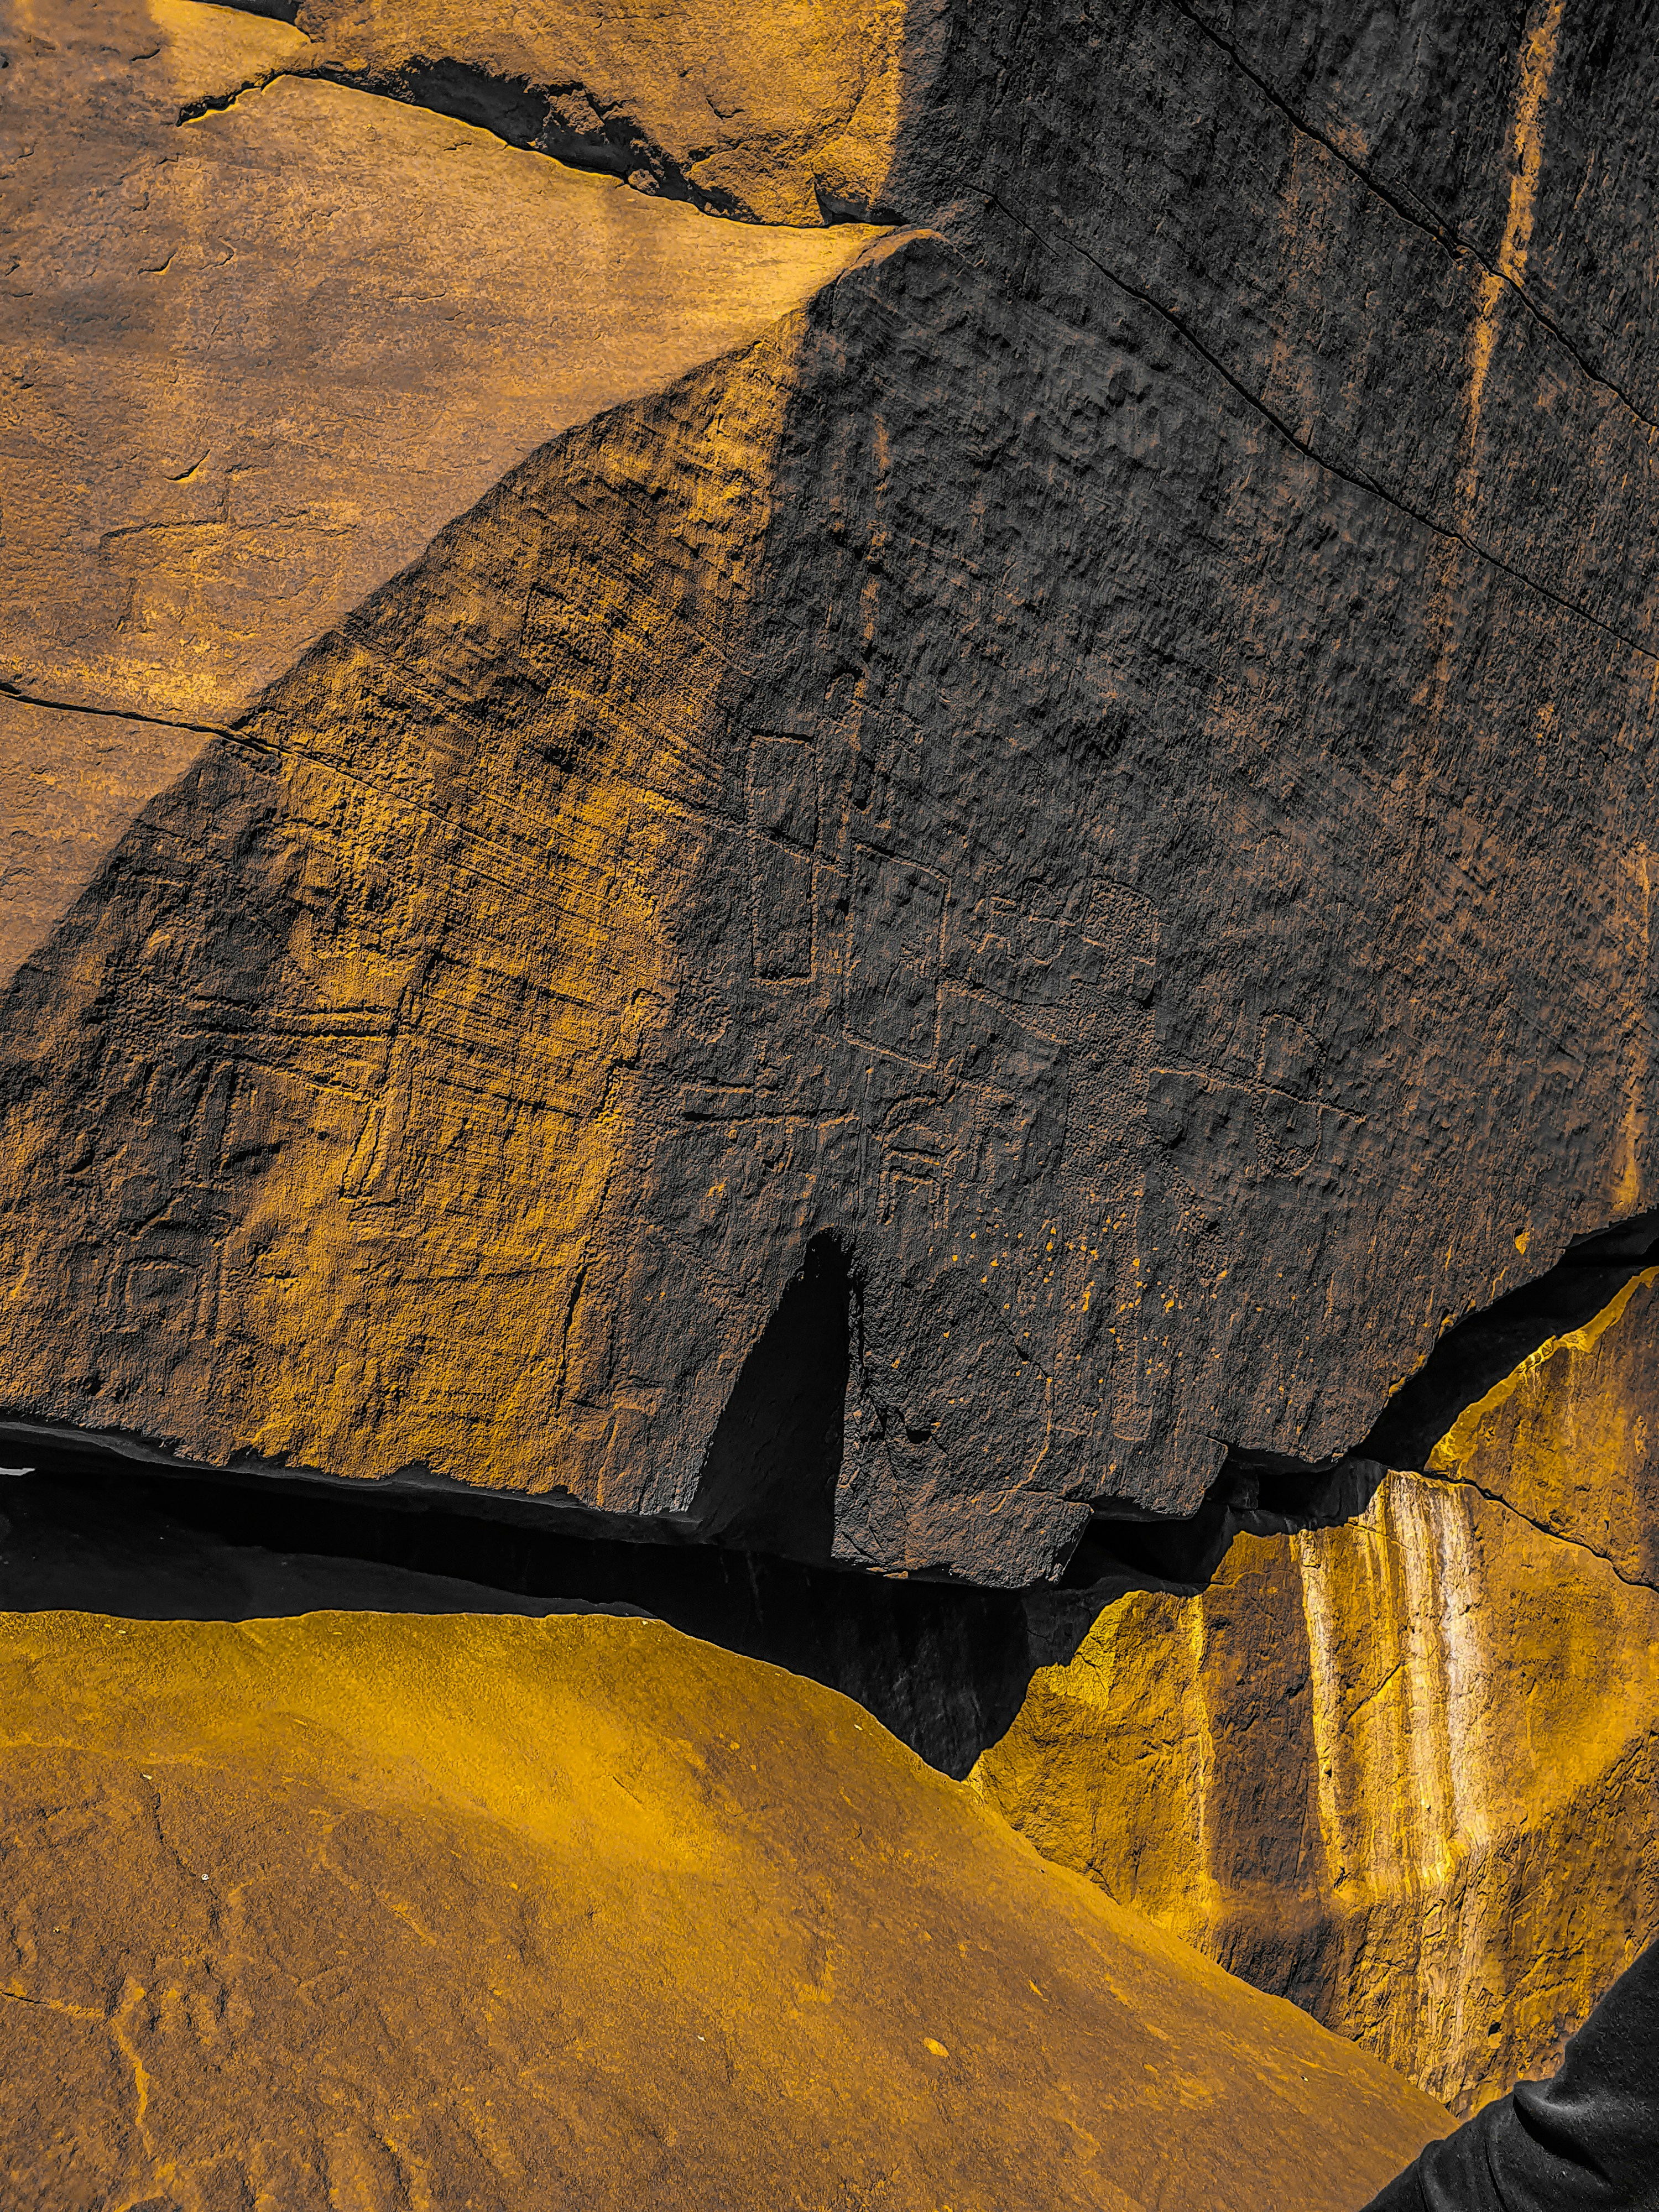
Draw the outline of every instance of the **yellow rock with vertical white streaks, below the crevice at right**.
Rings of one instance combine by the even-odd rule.
[[[1659,1933],[1646,1270],[1334,1524],[1108,1604],[975,1781],[1044,1854],[1455,2110]]]

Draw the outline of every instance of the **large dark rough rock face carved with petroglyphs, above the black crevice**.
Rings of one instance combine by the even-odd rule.
[[[504,478],[15,984],[9,1407],[1002,1584],[1352,1449],[1652,1201],[1652,66],[909,24],[933,228]]]

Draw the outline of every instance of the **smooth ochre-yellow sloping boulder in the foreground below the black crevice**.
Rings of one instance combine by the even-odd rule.
[[[13,1617],[0,1674],[18,2212],[1349,2212],[1447,2126],[655,1624]]]

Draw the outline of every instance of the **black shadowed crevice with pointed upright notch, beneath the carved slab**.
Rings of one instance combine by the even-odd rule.
[[[157,1464],[0,1425],[0,1608],[137,1619],[383,1613],[646,1613],[865,1705],[962,1776],[1040,1666],[1064,1666],[1135,1588],[1199,1590],[1239,1533],[1363,1513],[1385,1467],[1420,1467],[1451,1420],[1659,1254],[1659,1217],[1579,1239],[1449,1329],[1352,1455],[1234,1453],[1190,1520],[1097,1515],[1055,1588],[975,1590],[810,1564],[830,1548],[852,1285],[818,1239],[743,1365],[699,1491],[714,1542],[573,1533],[529,1498],[411,1493],[319,1475]],[[22,1469],[22,1471],[20,1471]],[[779,1548],[810,1559],[779,1557]]]

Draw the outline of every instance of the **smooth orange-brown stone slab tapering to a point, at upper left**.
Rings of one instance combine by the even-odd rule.
[[[299,31],[199,0],[31,27],[0,77],[0,677],[142,726],[0,699],[0,975],[210,734],[168,723],[232,721],[549,434],[872,237],[708,221],[296,80]]]

